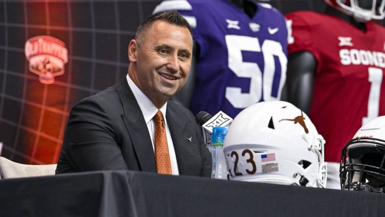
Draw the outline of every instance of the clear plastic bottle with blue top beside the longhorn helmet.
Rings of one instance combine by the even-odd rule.
[[[211,135],[213,172],[211,178],[227,179],[227,166],[225,154],[223,153],[223,142],[229,127],[214,127]]]

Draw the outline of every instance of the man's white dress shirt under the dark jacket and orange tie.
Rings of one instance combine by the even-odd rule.
[[[132,93],[135,96],[136,102],[139,104],[139,108],[142,111],[142,114],[145,118],[147,128],[150,132],[150,138],[152,143],[152,150],[155,150],[154,148],[154,137],[155,137],[155,121],[152,120],[152,118],[155,116],[156,112],[158,112],[158,108],[150,101],[150,99],[140,90],[134,82],[131,80],[131,78],[127,74],[127,82],[129,88],[131,88]],[[169,154],[170,154],[170,162],[171,162],[171,171],[173,175],[178,175],[178,163],[176,162],[176,155],[174,150],[174,145],[171,140],[171,134],[169,125],[167,124],[166,119],[166,109],[167,109],[167,102],[165,105],[162,106],[159,110],[162,111],[163,118],[165,120],[165,126],[166,126],[166,136],[167,136],[167,145],[169,147]]]

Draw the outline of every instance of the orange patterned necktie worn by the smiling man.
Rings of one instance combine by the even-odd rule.
[[[162,112],[158,110],[153,119],[155,121],[156,169],[158,171],[158,174],[172,174],[169,146],[167,145],[166,137],[166,126]]]

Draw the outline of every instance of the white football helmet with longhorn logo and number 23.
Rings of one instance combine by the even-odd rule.
[[[325,140],[309,117],[288,102],[260,102],[241,111],[225,138],[230,179],[326,186]]]

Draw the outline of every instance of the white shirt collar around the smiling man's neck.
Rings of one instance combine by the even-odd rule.
[[[156,106],[151,102],[149,97],[147,97],[146,94],[144,94],[142,92],[142,90],[140,90],[135,85],[135,83],[128,76],[128,73],[127,73],[126,78],[127,78],[128,86],[132,90],[132,93],[134,94],[136,102],[138,103],[139,108],[142,111],[142,114],[143,114],[145,121],[146,121],[146,124],[147,124],[155,116],[156,112],[158,112],[158,108],[156,108]],[[164,120],[166,120],[166,109],[167,109],[167,102],[165,103],[165,105],[163,105],[159,109],[163,113]]]

